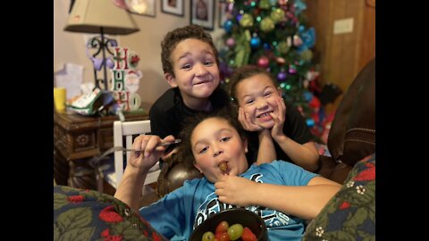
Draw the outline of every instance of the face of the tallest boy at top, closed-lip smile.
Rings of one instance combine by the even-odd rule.
[[[181,41],[172,51],[174,77],[165,73],[172,87],[179,87],[185,104],[208,99],[220,82],[212,46],[195,38]],[[192,107],[192,106],[189,106]]]

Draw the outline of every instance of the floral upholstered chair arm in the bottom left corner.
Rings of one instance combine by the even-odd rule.
[[[54,240],[167,239],[112,195],[54,186]]]

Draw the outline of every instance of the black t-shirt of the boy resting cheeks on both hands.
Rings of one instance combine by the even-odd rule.
[[[309,141],[314,141],[315,137],[311,134],[310,129],[307,127],[306,120],[302,117],[298,109],[293,104],[286,104],[286,117],[283,124],[283,133],[290,137],[299,144],[305,144]],[[259,146],[259,139],[257,131],[247,131],[248,134],[248,160],[257,160],[257,148]],[[282,147],[274,141],[275,153],[277,160],[292,162],[290,157],[284,153]],[[292,162],[293,163],[293,162]]]

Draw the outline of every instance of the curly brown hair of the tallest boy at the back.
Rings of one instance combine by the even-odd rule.
[[[170,73],[172,74],[172,77],[175,77],[172,68],[172,51],[182,40],[188,38],[201,40],[211,46],[216,59],[216,64],[219,68],[219,53],[214,46],[212,36],[198,25],[188,25],[168,32],[165,35],[164,40],[161,42],[161,62],[163,62],[164,73]]]

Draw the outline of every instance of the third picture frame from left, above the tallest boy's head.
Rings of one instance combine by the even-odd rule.
[[[213,0],[190,0],[190,24],[213,30],[214,2]]]

